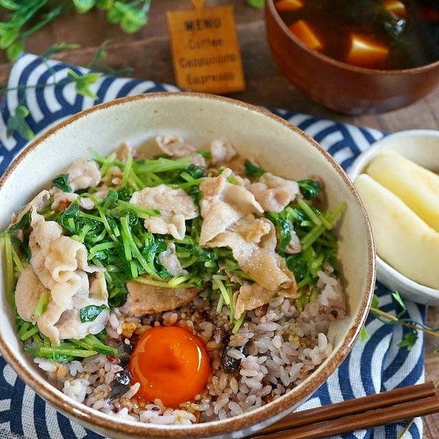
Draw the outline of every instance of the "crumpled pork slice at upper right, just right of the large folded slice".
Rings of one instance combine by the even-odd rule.
[[[274,176],[270,172],[265,172],[259,181],[248,185],[248,190],[265,212],[283,211],[300,193],[297,182]]]

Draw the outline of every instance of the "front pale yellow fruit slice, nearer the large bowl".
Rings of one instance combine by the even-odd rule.
[[[379,257],[404,276],[439,288],[439,233],[370,176],[361,174],[354,184],[372,224]]]

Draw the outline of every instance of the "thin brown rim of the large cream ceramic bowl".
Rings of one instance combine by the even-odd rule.
[[[62,128],[69,125],[70,123],[73,123],[74,121],[77,121],[82,117],[86,117],[86,115],[90,114],[91,112],[104,110],[105,108],[118,106],[126,102],[132,102],[141,99],[174,99],[175,97],[186,97],[191,99],[213,99],[219,102],[226,103],[228,105],[237,106],[239,108],[250,110],[251,112],[259,113],[260,115],[272,119],[276,123],[281,123],[281,125],[285,126],[289,130],[296,132],[301,137],[306,139],[312,147],[316,148],[316,150],[318,150],[320,154],[327,158],[335,171],[340,174],[342,180],[344,180],[346,186],[354,195],[355,199],[357,200],[363,211],[364,223],[368,235],[368,274],[366,280],[366,291],[364,292],[364,298],[361,301],[359,314],[355,318],[350,329],[348,329],[348,331],[344,335],[340,348],[335,351],[335,355],[331,358],[330,361],[328,361],[327,363],[326,361],[324,362],[324,364],[326,363],[324,368],[320,368],[318,373],[311,374],[309,379],[304,381],[303,384],[298,385],[297,388],[299,390],[298,392],[294,392],[294,397],[292,392],[287,392],[278,399],[261,407],[258,407],[251,412],[238,416],[233,416],[232,418],[227,418],[224,420],[214,420],[207,423],[190,425],[187,427],[180,427],[175,425],[164,425],[162,427],[158,427],[154,424],[143,424],[133,421],[121,420],[119,418],[115,418],[114,416],[98,412],[97,410],[94,410],[91,407],[87,407],[82,403],[77,403],[73,401],[73,399],[70,399],[67,395],[60,392],[60,390],[57,390],[53,385],[49,384],[49,382],[40,375],[37,375],[35,374],[35,372],[30,372],[29,370],[27,370],[25,365],[21,364],[20,360],[11,351],[8,344],[5,343],[3,337],[0,337],[0,351],[3,357],[5,357],[8,363],[14,368],[14,370],[16,370],[19,377],[51,405],[58,408],[58,410],[69,414],[69,416],[72,416],[79,421],[95,425],[96,427],[100,429],[105,429],[106,431],[121,431],[124,434],[129,434],[130,436],[136,438],[145,438],[151,436],[157,438],[167,438],[169,437],[170,432],[173,436],[178,436],[182,438],[206,437],[219,434],[228,434],[232,431],[241,430],[257,423],[261,423],[263,420],[268,420],[272,416],[276,416],[277,414],[288,410],[288,408],[292,407],[294,403],[304,399],[305,396],[311,394],[311,392],[316,390],[324,381],[326,381],[327,378],[335,370],[335,368],[337,368],[337,366],[339,366],[340,363],[344,360],[346,355],[348,355],[348,352],[351,351],[351,348],[355,340],[357,339],[359,332],[361,331],[361,327],[363,327],[364,322],[366,322],[368,309],[370,307],[370,302],[372,300],[372,294],[375,285],[375,251],[372,241],[370,222],[368,220],[364,206],[361,203],[359,195],[357,194],[357,191],[355,191],[351,180],[349,180],[348,176],[346,176],[340,165],[338,165],[330,156],[330,154],[326,152],[320,145],[318,145],[316,141],[311,139],[311,137],[299,130],[299,128],[297,128],[296,126],[293,126],[291,123],[285,121],[284,119],[281,119],[281,117],[273,115],[268,110],[258,108],[251,104],[246,104],[244,102],[239,102],[235,99],[191,92],[148,93],[145,95],[122,97],[120,99],[115,99],[111,102],[106,102],[104,104],[99,104],[92,108],[88,108],[88,110],[79,112],[78,114],[73,115],[68,119],[58,123],[56,126],[49,129],[43,135],[38,137],[38,139],[34,140],[27,148],[25,148],[25,150],[23,150],[23,152],[19,154],[19,156],[12,162],[10,167],[8,167],[8,169],[5,171],[5,174],[3,174],[3,176],[1,177],[0,189],[1,187],[3,187],[3,184],[8,176],[10,176],[12,171],[14,171],[14,169],[19,165],[19,163],[30,151],[34,150],[40,143],[42,143],[52,135],[56,134],[58,130],[62,130]]]

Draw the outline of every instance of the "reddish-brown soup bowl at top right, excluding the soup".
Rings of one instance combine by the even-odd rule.
[[[439,84],[439,61],[414,69],[364,69],[310,49],[283,22],[274,0],[265,1],[265,20],[272,56],[283,74],[307,97],[333,110],[348,115],[396,110]]]

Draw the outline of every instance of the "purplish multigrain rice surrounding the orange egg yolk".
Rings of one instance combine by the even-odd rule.
[[[196,333],[206,343],[212,375],[202,394],[195,401],[178,409],[164,407],[160,400],[145,403],[136,397],[139,383],[118,399],[110,399],[110,383],[123,368],[119,359],[96,355],[84,361],[56,364],[35,359],[49,381],[75,401],[95,410],[142,423],[189,425],[225,419],[254,410],[285,394],[306,379],[331,351],[327,338],[329,324],[344,317],[344,295],[331,265],[318,273],[320,294],[298,313],[294,300],[275,298],[265,313],[260,309],[248,312],[244,323],[228,344],[224,333],[230,333],[225,316],[209,313],[216,303],[209,304],[203,294],[190,306],[176,311],[132,316],[129,305],[112,309],[106,332],[116,344],[126,339],[128,325],[134,324],[133,337],[158,325],[178,325]],[[213,316],[213,317],[211,317]],[[132,326],[129,327],[131,329]],[[134,340],[135,341],[135,340]],[[242,346],[246,346],[243,353]],[[224,372],[222,357],[226,354],[239,361],[235,374]]]

